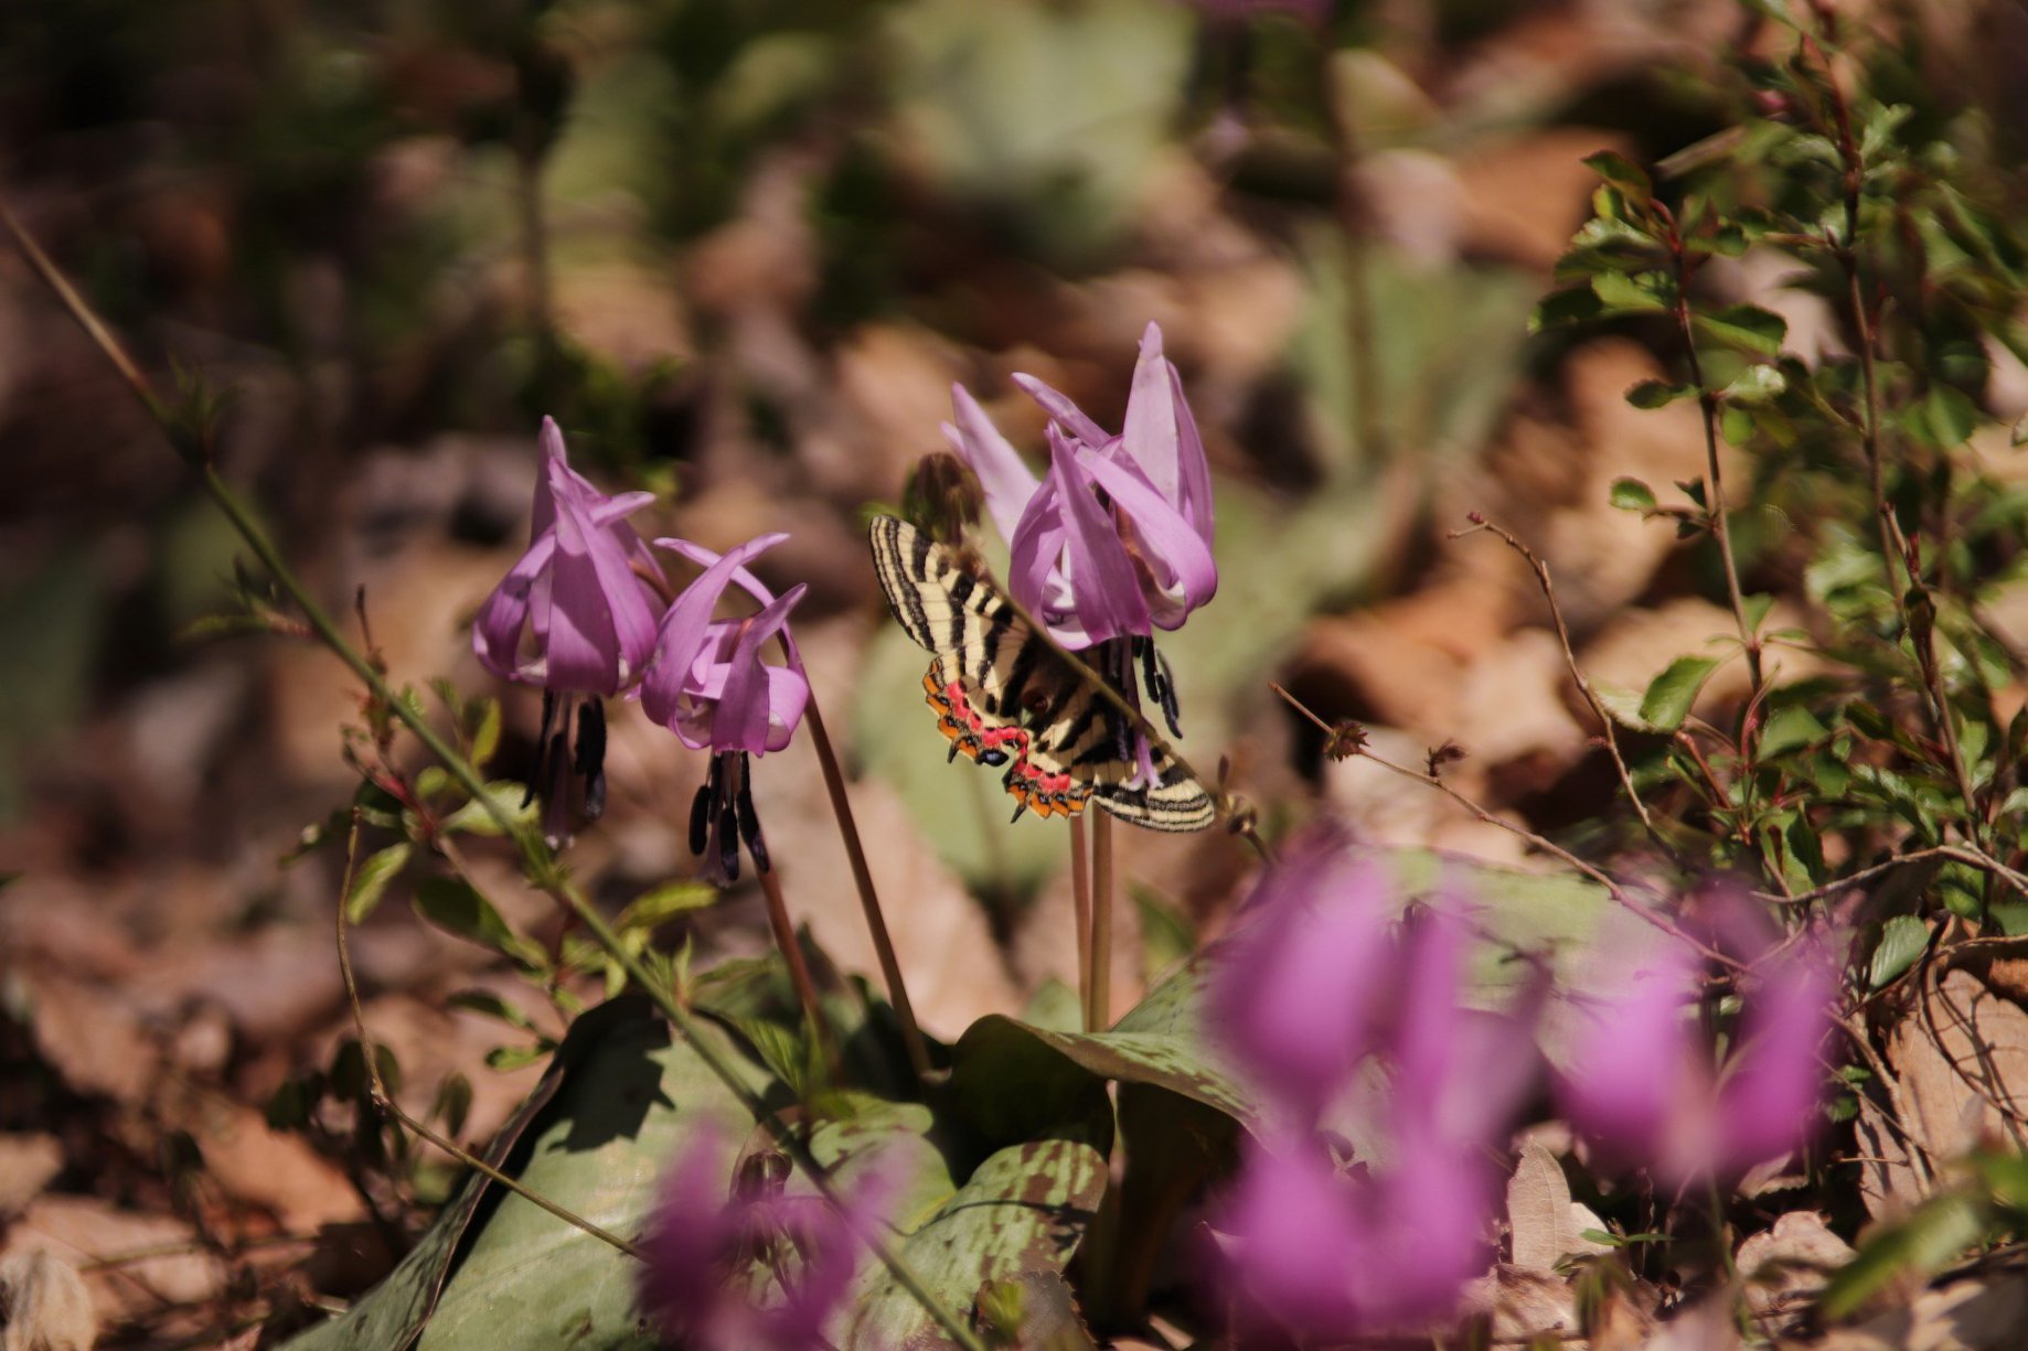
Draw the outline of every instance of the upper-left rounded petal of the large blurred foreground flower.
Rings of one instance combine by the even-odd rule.
[[[1213,1035],[1268,1104],[1314,1124],[1375,1043],[1393,945],[1387,878],[1347,866],[1345,838],[1300,842],[1253,891],[1211,990]]]

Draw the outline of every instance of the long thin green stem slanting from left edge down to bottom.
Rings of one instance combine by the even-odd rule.
[[[105,359],[114,365],[114,369],[120,371],[122,379],[126,379],[126,383],[134,389],[134,396],[154,418],[156,426],[162,428],[162,434],[168,438],[176,454],[183,454],[185,458],[195,458],[189,454],[189,446],[185,444],[185,438],[178,432],[170,416],[170,410],[160,400],[156,400],[154,392],[148,387],[146,377],[140,373],[140,367],[134,365],[132,357],[128,357],[120,341],[105,329],[103,323],[99,323],[97,314],[91,310],[89,304],[85,304],[83,296],[79,296],[77,290],[71,288],[69,280],[61,272],[57,272],[57,266],[49,260],[47,254],[43,254],[43,250],[28,235],[28,231],[14,217],[14,213],[8,211],[4,201],[0,201],[0,225],[6,225],[8,233],[14,235],[14,243],[28,260],[28,266],[34,268],[34,272],[43,278],[43,282],[55,292],[63,308],[69,310],[71,318],[77,321],[77,325],[97,345],[97,349],[105,355]],[[481,779],[479,771],[473,769],[473,765],[462,755],[458,755],[442,736],[438,736],[436,728],[430,726],[430,722],[422,716],[422,712],[412,708],[408,700],[402,700],[397,692],[391,686],[387,686],[385,680],[381,680],[379,671],[375,671],[373,665],[367,663],[367,659],[359,655],[359,651],[345,639],[345,635],[339,633],[339,629],[331,623],[331,617],[324,615],[322,607],[316,605],[316,600],[308,594],[308,590],[302,586],[296,574],[290,572],[288,564],[282,562],[282,556],[276,552],[266,531],[254,519],[254,513],[247,511],[245,503],[239,501],[239,497],[231,491],[231,487],[227,487],[225,481],[219,479],[217,471],[213,471],[209,465],[205,467],[205,491],[219,505],[225,517],[233,523],[233,529],[239,531],[239,538],[245,540],[247,548],[254,550],[254,556],[274,578],[276,586],[280,586],[288,594],[288,598],[302,611],[304,623],[310,625],[310,631],[318,637],[318,641],[322,641],[324,647],[329,647],[331,653],[361,680],[361,684],[365,684],[365,688],[373,694],[373,698],[381,700],[385,708],[395,718],[400,718],[410,732],[414,732],[416,740],[420,740],[424,749],[428,749],[430,755],[436,757],[436,761],[458,783],[458,787],[462,787],[475,801],[485,803],[485,811],[501,828],[501,834],[513,840],[515,848],[521,854],[523,866],[527,868],[527,874],[535,882],[535,886],[550,893],[558,903],[562,903],[578,919],[578,923],[582,923],[584,929],[592,935],[592,941],[596,941],[614,962],[621,964],[621,970],[627,972],[627,978],[635,984],[635,988],[647,994],[647,998],[655,1004],[655,1008],[659,1008],[663,1016],[669,1018],[669,1024],[675,1026],[677,1035],[685,1043],[690,1043],[690,1049],[698,1053],[698,1059],[704,1061],[706,1069],[710,1069],[720,1079],[720,1083],[726,1085],[732,1097],[738,1099],[738,1104],[748,1112],[748,1116],[754,1118],[754,1122],[767,1128],[777,1148],[781,1148],[795,1162],[795,1166],[801,1168],[805,1177],[809,1177],[811,1187],[815,1187],[817,1195],[821,1195],[831,1205],[842,1205],[838,1187],[831,1183],[829,1172],[825,1172],[823,1164],[819,1164],[817,1158],[809,1152],[809,1146],[803,1142],[803,1138],[797,1136],[795,1130],[791,1130],[789,1124],[783,1122],[781,1116],[777,1116],[775,1110],[769,1108],[767,1101],[752,1087],[746,1085],[744,1077],[740,1077],[740,1073],[732,1067],[732,1063],[724,1055],[720,1055],[718,1047],[714,1047],[698,1030],[696,1018],[690,1016],[690,1010],[683,1008],[683,1004],[675,998],[675,994],[665,984],[655,980],[655,976],[641,964],[639,955],[635,955],[625,943],[621,943],[619,935],[612,931],[612,925],[606,923],[604,915],[598,913],[598,909],[590,903],[584,891],[580,891],[578,884],[570,880],[570,876],[566,876],[564,870],[558,866],[554,852],[550,850],[548,844],[544,844],[541,836],[533,828],[515,822],[513,815],[507,811],[507,807],[501,805],[493,797],[493,793],[487,791],[487,785]],[[939,1329],[943,1329],[953,1343],[963,1347],[963,1351],[986,1351],[986,1343],[980,1341],[977,1333],[973,1333],[955,1312],[951,1312],[945,1306],[943,1300],[939,1300],[929,1290],[929,1286],[923,1284],[923,1278],[915,1274],[915,1268],[902,1262],[900,1254],[894,1250],[892,1243],[888,1243],[884,1237],[876,1233],[868,1233],[866,1246],[872,1250],[880,1266],[884,1266],[888,1274],[894,1278],[894,1284],[907,1290],[909,1296],[923,1308],[923,1312],[927,1312],[929,1319]]]

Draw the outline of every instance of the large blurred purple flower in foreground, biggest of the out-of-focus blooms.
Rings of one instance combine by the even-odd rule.
[[[1535,1081],[1537,998],[1519,1016],[1464,1008],[1458,907],[1389,931],[1385,876],[1336,832],[1302,842],[1249,909],[1211,994],[1261,1099],[1217,1221],[1241,1314],[1326,1341],[1442,1321],[1489,1262],[1491,1156]],[[1363,1134],[1385,1160],[1341,1170],[1318,1130],[1369,1055],[1389,1081]]]

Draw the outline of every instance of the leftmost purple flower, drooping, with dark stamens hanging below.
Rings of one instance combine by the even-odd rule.
[[[548,801],[562,836],[570,775],[584,783],[584,815],[606,799],[602,696],[641,678],[655,643],[661,568],[627,525],[653,493],[606,497],[570,469],[564,432],[541,420],[544,471],[529,511],[529,546],[473,623],[473,653],[503,680],[541,686],[541,732],[529,797]],[[576,704],[582,698],[582,704]],[[572,746],[576,704],[576,746]],[[525,803],[523,803],[525,805]]]

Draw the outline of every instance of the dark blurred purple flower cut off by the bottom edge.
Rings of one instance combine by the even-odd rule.
[[[878,1160],[874,1160],[878,1164]],[[872,1166],[838,1209],[791,1195],[779,1177],[746,1168],[732,1183],[728,1150],[692,1140],[661,1185],[641,1246],[641,1308],[673,1343],[696,1351],[807,1351],[844,1300],[858,1250],[892,1191]]]

